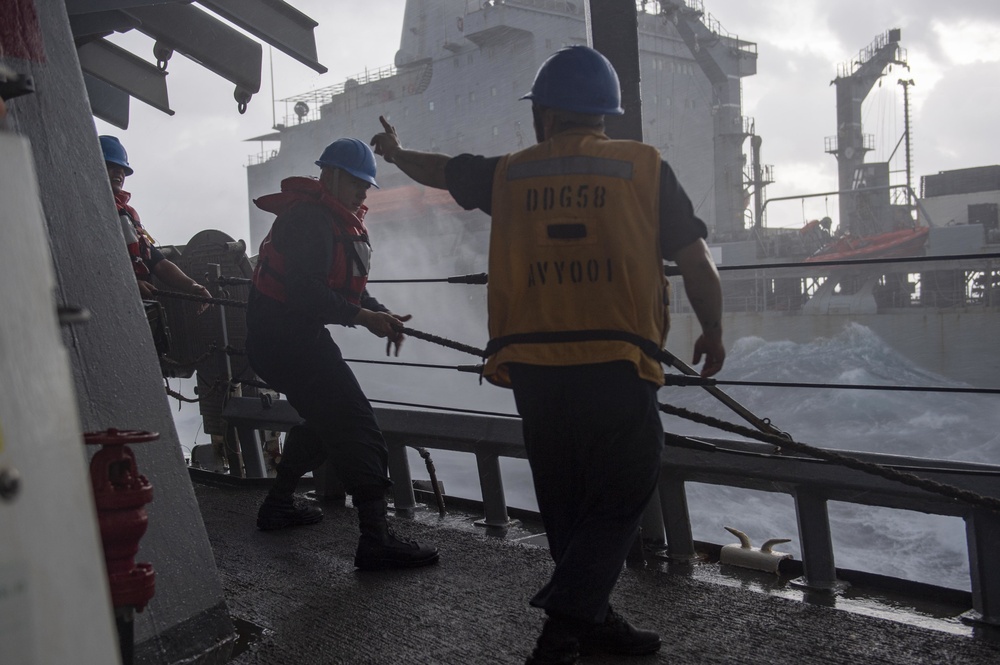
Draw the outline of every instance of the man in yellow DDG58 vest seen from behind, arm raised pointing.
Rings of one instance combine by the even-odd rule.
[[[513,388],[555,569],[531,600],[547,614],[529,664],[580,654],[641,655],[656,632],[608,599],[656,487],[663,446],[657,389],[667,333],[663,260],[673,260],[701,323],[694,362],[722,368],[721,287],[705,224],[659,152],[613,141],[621,114],[611,63],[585,46],[546,60],[531,91],[538,143],[504,155],[375,153],[413,180],[492,216],[486,378]]]

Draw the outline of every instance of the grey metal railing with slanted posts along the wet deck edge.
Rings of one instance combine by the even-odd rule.
[[[483,496],[483,524],[509,524],[500,458],[526,457],[520,421],[515,418],[376,408],[389,445],[389,473],[397,510],[416,507],[406,447],[470,453],[476,458]],[[929,460],[879,453],[850,453],[866,462],[906,470],[936,482],[1000,498],[1000,466]],[[1000,514],[808,457],[780,455],[756,442],[667,436],[662,456],[658,500],[647,509],[644,528],[662,528],[667,555],[695,557],[688,482],[740,487],[790,495],[795,502],[802,552],[803,586],[837,586],[829,501],[881,506],[965,520],[972,583],[972,609],[963,618],[1000,625]],[[647,534],[648,535],[648,534]],[[655,535],[655,534],[654,534]]]

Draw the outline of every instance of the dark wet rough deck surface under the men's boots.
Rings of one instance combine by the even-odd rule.
[[[548,578],[547,550],[457,528],[436,513],[391,518],[435,543],[436,566],[354,568],[356,514],[276,532],[254,525],[265,491],[195,485],[230,614],[263,629],[235,665],[523,663],[543,615],[528,598]],[[471,521],[471,518],[470,518]],[[663,647],[641,658],[582,663],[1000,662],[995,638],[969,637],[776,597],[662,567],[629,567],[612,598]],[[991,631],[992,632],[992,631]]]

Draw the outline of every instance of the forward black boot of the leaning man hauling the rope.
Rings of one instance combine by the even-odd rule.
[[[361,538],[354,555],[354,565],[361,570],[384,570],[386,568],[418,568],[436,563],[437,548],[421,545],[412,540],[401,540],[389,528],[385,516],[385,499],[358,501],[358,523]]]

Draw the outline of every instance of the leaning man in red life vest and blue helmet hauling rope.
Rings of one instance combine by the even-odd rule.
[[[388,452],[368,398],[327,325],[363,326],[399,355],[402,322],[366,288],[371,245],[364,202],[375,155],[338,139],[316,162],[319,179],[286,178],[281,192],[254,201],[277,215],[260,245],[247,307],[251,367],[302,417],[285,438],[277,477],[257,514],[262,530],[312,524],[314,504],[293,497],[299,479],[329,457],[351,494],[361,529],[354,565],[362,570],[432,564],[437,548],[401,540],[386,521]]]

